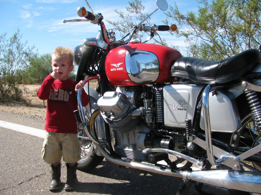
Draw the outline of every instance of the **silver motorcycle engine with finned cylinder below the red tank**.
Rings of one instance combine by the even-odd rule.
[[[96,107],[109,124],[115,136],[115,152],[122,158],[147,160],[146,148],[174,149],[171,136],[163,136],[163,100],[161,91],[148,86],[118,87],[116,92],[105,92],[97,101]],[[155,97],[155,100],[148,97]],[[162,112],[162,113],[161,113]]]

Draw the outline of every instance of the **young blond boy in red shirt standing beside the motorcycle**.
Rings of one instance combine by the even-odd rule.
[[[46,138],[43,143],[42,158],[51,165],[52,179],[49,190],[58,190],[61,183],[61,158],[66,162],[67,181],[65,190],[72,190],[78,184],[76,177],[77,161],[81,159],[81,148],[77,138],[77,125],[73,111],[78,109],[77,92],[83,88],[68,78],[73,70],[73,51],[68,47],[57,47],[52,52],[52,73],[48,75],[37,95],[47,100]],[[82,105],[89,102],[83,90]]]

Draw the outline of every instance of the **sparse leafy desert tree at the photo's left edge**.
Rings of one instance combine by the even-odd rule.
[[[26,46],[27,41],[21,42],[19,29],[9,39],[6,35],[0,36],[0,101],[10,98],[20,101],[24,70],[37,53],[34,52],[34,46]]]

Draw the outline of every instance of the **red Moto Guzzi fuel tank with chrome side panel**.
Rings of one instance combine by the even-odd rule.
[[[171,82],[171,66],[182,57],[176,49],[147,43],[130,43],[112,49],[105,72],[112,86]]]

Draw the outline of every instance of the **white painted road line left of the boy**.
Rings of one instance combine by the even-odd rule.
[[[18,124],[15,124],[15,123],[5,122],[5,121],[1,121],[1,120],[0,120],[0,126],[7,128],[7,129],[19,131],[19,132],[22,132],[22,133],[34,135],[34,136],[37,136],[37,137],[40,137],[40,138],[45,138],[45,131],[42,130],[42,129],[27,127],[27,126],[24,126],[24,125],[18,125]]]

